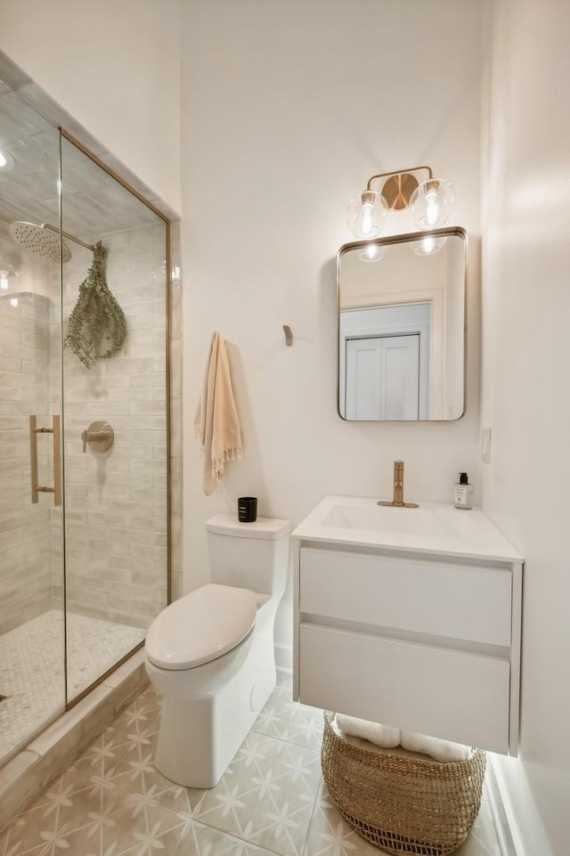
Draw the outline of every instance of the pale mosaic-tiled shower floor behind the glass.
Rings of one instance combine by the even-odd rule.
[[[144,639],[138,627],[68,615],[69,698]],[[0,762],[64,709],[63,613],[52,609],[0,636]]]

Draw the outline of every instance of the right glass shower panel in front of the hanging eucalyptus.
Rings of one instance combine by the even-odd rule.
[[[61,139],[69,702],[167,604],[167,221]]]

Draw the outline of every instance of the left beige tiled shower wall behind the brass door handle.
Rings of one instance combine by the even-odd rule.
[[[4,234],[4,225],[0,226]],[[29,415],[50,425],[49,301],[31,289],[34,269],[10,279],[19,296],[0,297],[0,633],[52,603],[50,513],[53,497],[31,502]],[[25,296],[22,291],[25,290]],[[2,292],[0,291],[0,295]],[[17,306],[12,306],[17,300]],[[38,436],[40,484],[52,485],[52,436]]]

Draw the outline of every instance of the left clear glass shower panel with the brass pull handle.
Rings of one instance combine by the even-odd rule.
[[[2,762],[66,704],[60,140],[2,83],[0,154]]]

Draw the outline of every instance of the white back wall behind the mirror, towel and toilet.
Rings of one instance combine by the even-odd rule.
[[[453,223],[478,232],[478,6],[183,5],[187,589],[207,573],[204,520],[240,495],[297,523],[327,493],[389,498],[396,458],[410,500],[451,501],[457,473],[476,468],[476,276],[467,416],[347,423],[336,412],[335,257],[352,239],[348,200],[392,169],[428,164],[449,178]],[[392,229],[410,231],[400,217]],[[224,494],[206,498],[191,424],[213,330],[230,343],[244,457]],[[283,607],[278,644],[291,636]]]

